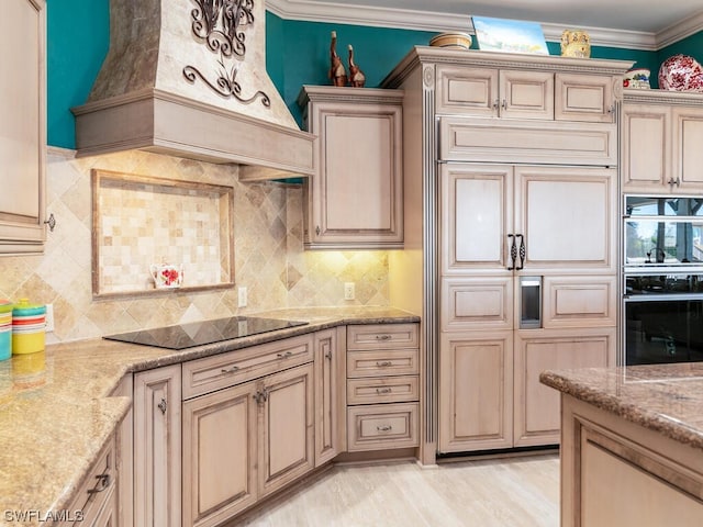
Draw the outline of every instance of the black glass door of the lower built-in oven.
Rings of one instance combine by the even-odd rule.
[[[625,365],[703,360],[703,296],[625,299]]]

